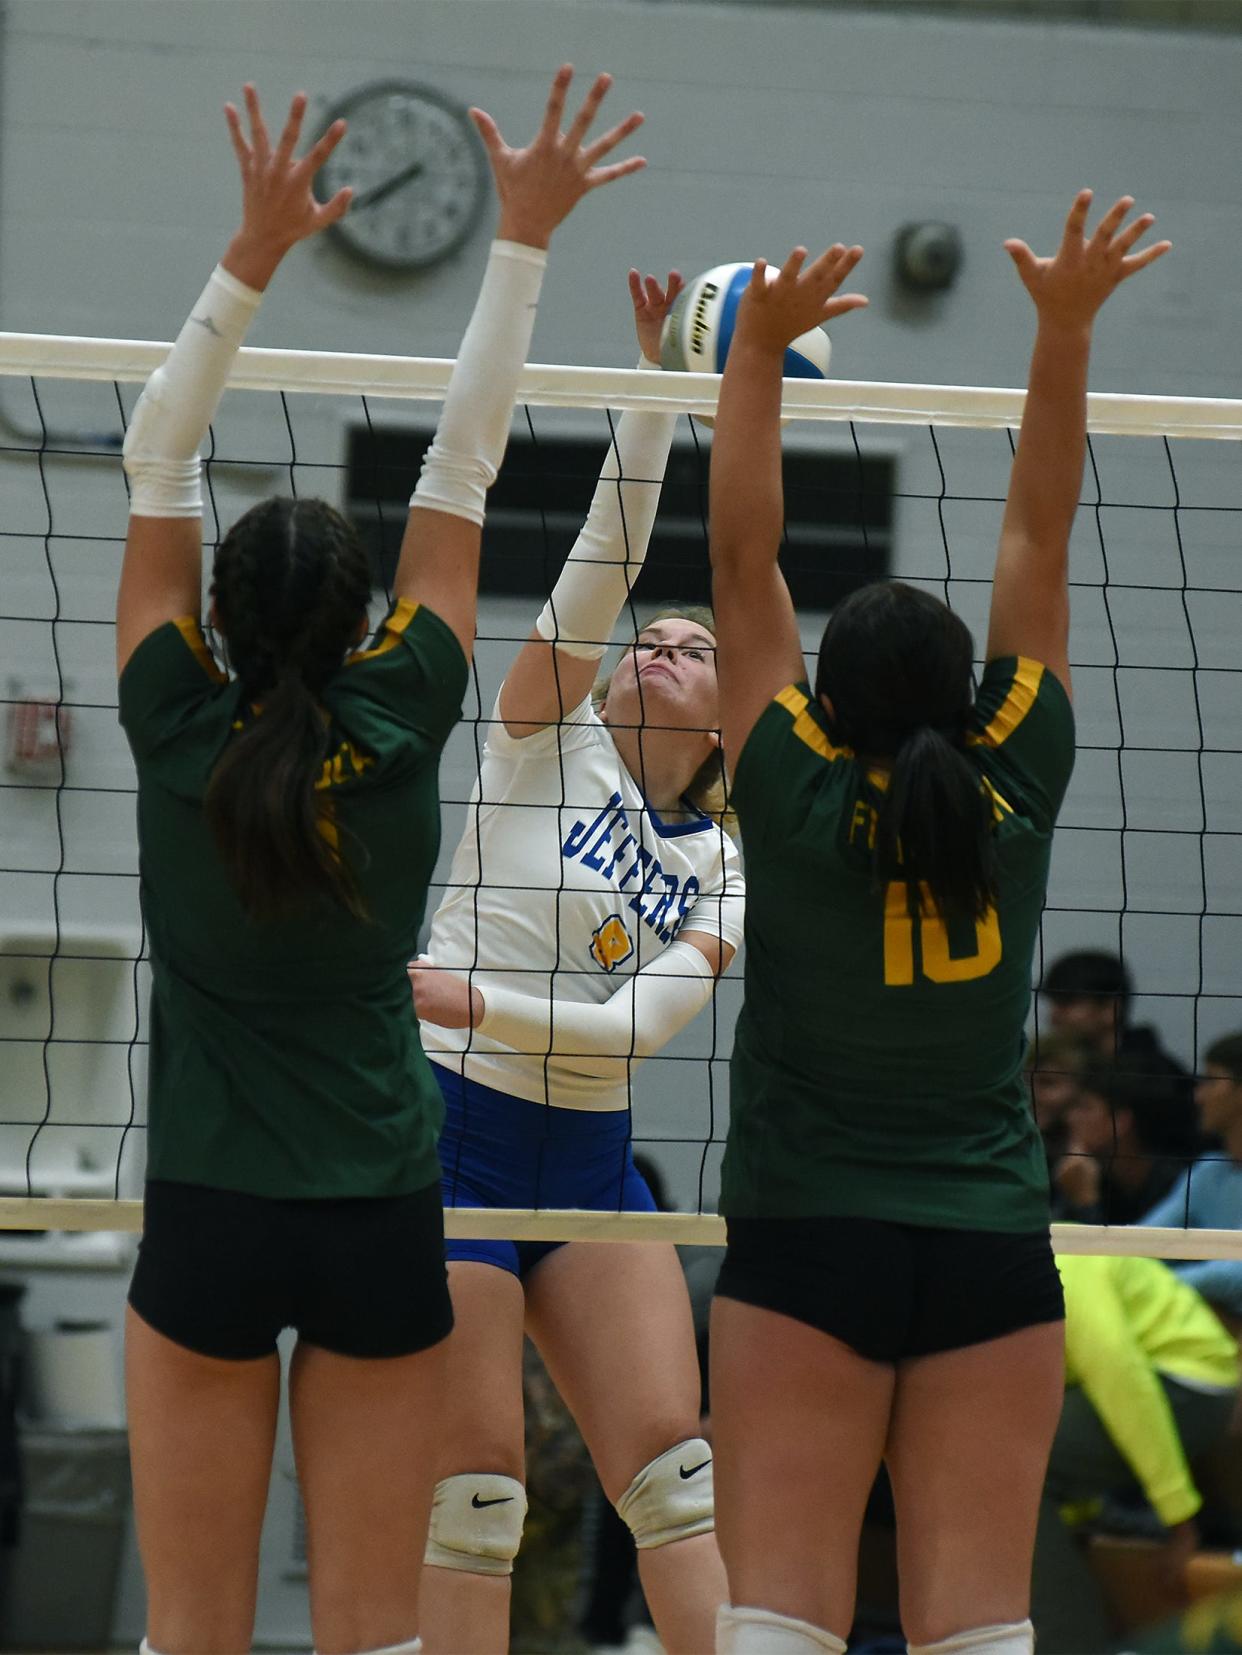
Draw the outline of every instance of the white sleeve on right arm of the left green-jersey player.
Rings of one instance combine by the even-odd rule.
[[[482,526],[487,490],[505,457],[546,261],[538,247],[492,243],[411,506],[447,511]]]

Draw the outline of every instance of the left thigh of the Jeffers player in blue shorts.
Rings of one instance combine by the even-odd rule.
[[[522,1341],[525,1296],[495,1264],[449,1263],[454,1331],[445,1346],[436,1476],[460,1471],[525,1475]]]

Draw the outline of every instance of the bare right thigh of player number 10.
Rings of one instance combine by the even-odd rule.
[[[886,1458],[912,1643],[1027,1617],[1063,1364],[1063,1322],[901,1364]]]

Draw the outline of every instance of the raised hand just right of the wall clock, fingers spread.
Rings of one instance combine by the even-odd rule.
[[[581,109],[561,132],[565,94],[573,79],[573,68],[565,63],[551,83],[543,124],[525,149],[510,149],[500,136],[500,127],[490,114],[472,109],[470,119],[492,162],[497,197],[500,200],[500,225],[497,235],[505,242],[523,242],[527,247],[546,247],[556,225],[573,212],[583,195],[598,190],[601,184],[624,179],[646,167],[641,156],[616,161],[606,167],[599,162],[616,146],[643,124],[641,114],[628,114],[593,144],[583,139],[595,121],[611,74],[598,74]]]

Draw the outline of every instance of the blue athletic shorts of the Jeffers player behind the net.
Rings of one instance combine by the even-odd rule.
[[[432,1063],[444,1094],[445,1206],[581,1206],[654,1213],[634,1165],[626,1109],[553,1109],[510,1097]],[[525,1278],[561,1241],[445,1241],[449,1259]]]

